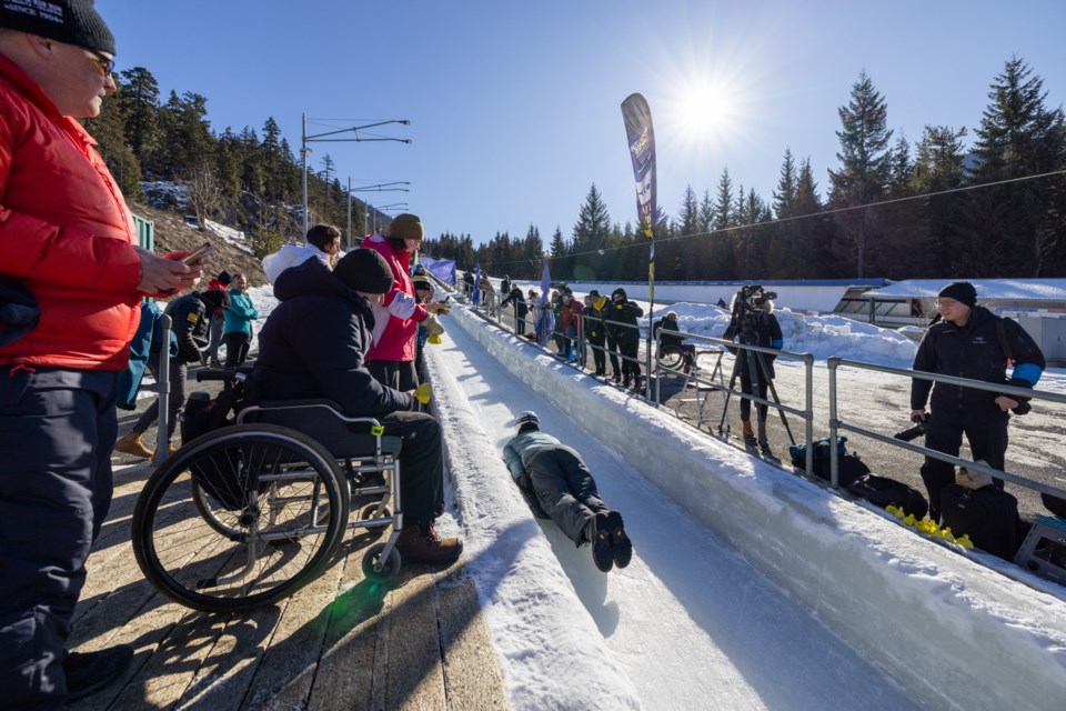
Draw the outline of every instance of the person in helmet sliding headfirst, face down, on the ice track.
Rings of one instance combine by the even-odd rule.
[[[533,515],[554,521],[574,545],[591,543],[592,560],[601,571],[628,565],[633,543],[622,514],[600,498],[581,454],[541,432],[536,412],[515,418],[514,430],[503,447],[503,461]]]

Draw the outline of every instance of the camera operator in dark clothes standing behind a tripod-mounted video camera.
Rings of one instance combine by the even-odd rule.
[[[784,346],[784,338],[781,334],[781,324],[777,323],[777,317],[774,316],[773,300],[776,296],[771,291],[764,291],[762,287],[742,287],[733,297],[733,318],[730,320],[730,326],[725,329],[722,338],[726,341],[738,338],[740,342],[746,346],[781,350]],[[750,356],[755,357],[751,364],[748,362]],[[774,360],[776,358],[776,356],[767,353],[755,351],[748,353],[745,349],[738,349],[734,372],[741,374],[741,392],[766,400],[770,392],[767,383],[775,375]],[[753,375],[755,382],[753,382]],[[755,432],[752,431],[752,401],[747,398],[741,398],[744,445],[753,448],[757,443],[764,454],[771,454],[770,440],[766,439],[768,410],[767,405],[757,404],[758,439],[756,440]]]

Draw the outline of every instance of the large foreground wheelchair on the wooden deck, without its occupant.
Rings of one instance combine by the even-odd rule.
[[[249,372],[200,371],[197,379],[225,381],[237,392],[228,402],[240,402]],[[209,401],[222,398],[194,392],[188,407]],[[184,442],[138,498],[133,553],[157,590],[204,612],[272,604],[314,580],[348,529],[388,529],[364,552],[362,570],[378,582],[396,574],[399,437],[329,400],[260,402],[235,421],[219,414],[227,423]]]

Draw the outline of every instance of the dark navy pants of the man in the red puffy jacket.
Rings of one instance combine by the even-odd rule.
[[[86,559],[111,505],[115,374],[0,370],[0,699],[61,708]]]

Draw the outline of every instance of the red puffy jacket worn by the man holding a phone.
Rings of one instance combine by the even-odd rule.
[[[0,365],[124,370],[140,319],[133,218],[95,141],[0,54],[0,277],[37,299],[37,328]]]

